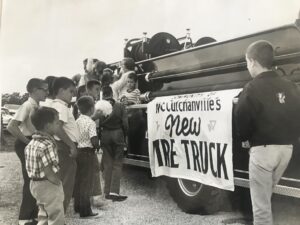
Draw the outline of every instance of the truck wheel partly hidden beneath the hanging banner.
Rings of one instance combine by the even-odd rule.
[[[167,188],[178,207],[192,214],[218,211],[225,193],[218,188],[179,178],[167,178]]]

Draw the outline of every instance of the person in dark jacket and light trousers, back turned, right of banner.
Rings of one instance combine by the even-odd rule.
[[[300,93],[296,84],[272,71],[274,49],[267,41],[246,50],[253,80],[235,108],[239,138],[250,147],[249,180],[254,225],[272,225],[271,197],[287,168],[299,136]]]

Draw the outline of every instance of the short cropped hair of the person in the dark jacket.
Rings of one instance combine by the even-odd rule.
[[[249,45],[246,56],[257,61],[262,67],[270,69],[274,61],[274,48],[268,41],[256,41]]]

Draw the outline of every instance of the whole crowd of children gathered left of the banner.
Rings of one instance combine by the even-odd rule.
[[[91,203],[100,199],[98,205],[103,204],[96,154],[100,147],[104,198],[127,199],[120,195],[120,179],[128,132],[125,106],[139,103],[140,96],[134,66],[125,58],[119,76],[105,63],[87,59],[85,74],[73,79],[29,80],[29,99],[8,125],[24,179],[19,225],[65,224],[72,197],[81,218],[97,216]],[[99,99],[111,104],[110,115],[95,111]]]

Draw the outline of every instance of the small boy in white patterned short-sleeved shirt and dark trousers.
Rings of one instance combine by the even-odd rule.
[[[91,119],[94,113],[94,100],[90,96],[83,96],[77,100],[81,115],[76,120],[80,136],[78,142],[76,190],[74,196],[75,211],[80,217],[96,216],[91,209],[90,196],[94,186],[94,157],[99,148],[96,123]],[[96,156],[97,157],[97,156]]]

